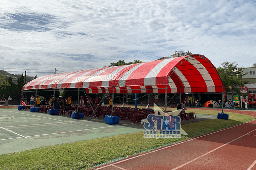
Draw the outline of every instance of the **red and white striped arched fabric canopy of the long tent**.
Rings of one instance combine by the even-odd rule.
[[[46,75],[22,90],[84,88],[88,93],[225,92],[213,64],[193,54],[165,60]]]

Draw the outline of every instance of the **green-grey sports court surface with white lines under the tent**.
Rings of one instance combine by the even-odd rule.
[[[215,115],[196,115],[197,119],[182,121],[181,124],[215,119]],[[61,143],[83,141],[120,134],[141,132],[141,123],[120,120],[109,125],[102,118],[88,117],[72,119],[65,115],[31,113],[15,109],[0,109],[0,154],[14,153],[33,148]]]

